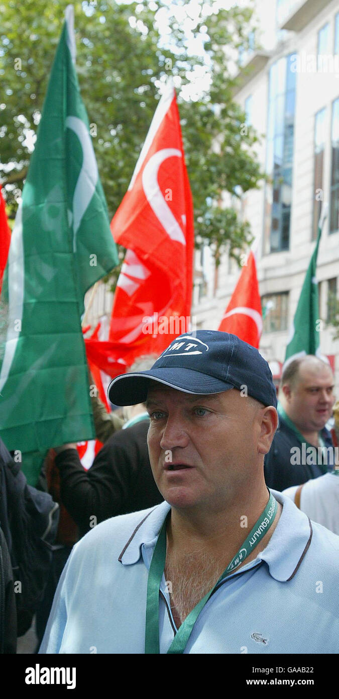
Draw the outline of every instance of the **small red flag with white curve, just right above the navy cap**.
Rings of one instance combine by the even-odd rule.
[[[262,335],[262,304],[253,252],[248,255],[218,330],[232,333],[259,348]]]

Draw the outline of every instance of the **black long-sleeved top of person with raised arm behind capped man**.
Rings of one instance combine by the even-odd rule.
[[[145,510],[163,501],[149,463],[148,428],[146,420],[114,433],[88,471],[82,467],[76,449],[57,454],[61,500],[81,535],[104,519]]]

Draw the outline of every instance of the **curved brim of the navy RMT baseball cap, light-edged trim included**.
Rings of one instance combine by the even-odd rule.
[[[234,389],[229,384],[193,369],[163,367],[149,371],[121,374],[110,383],[107,396],[115,405],[144,403],[150,383],[156,381],[188,394],[215,394]]]

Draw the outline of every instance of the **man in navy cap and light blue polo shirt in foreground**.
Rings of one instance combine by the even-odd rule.
[[[188,333],[108,394],[146,401],[165,502],[75,546],[40,653],[338,652],[339,537],[266,487],[277,401],[257,349]]]

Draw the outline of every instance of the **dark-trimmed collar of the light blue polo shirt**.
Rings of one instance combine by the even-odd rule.
[[[258,554],[257,559],[248,565],[252,567],[260,560],[265,561],[269,566],[270,575],[280,582],[285,582],[295,575],[303,556],[307,553],[312,538],[312,527],[307,515],[301,512],[290,498],[275,490],[271,492],[283,505],[283,512],[269,544]],[[170,505],[164,502],[156,505],[140,519],[119,556],[119,561],[123,565],[139,561],[142,545],[147,548],[154,547],[169,510]],[[242,570],[246,570],[246,565],[238,573],[234,571],[233,575],[240,574]]]

